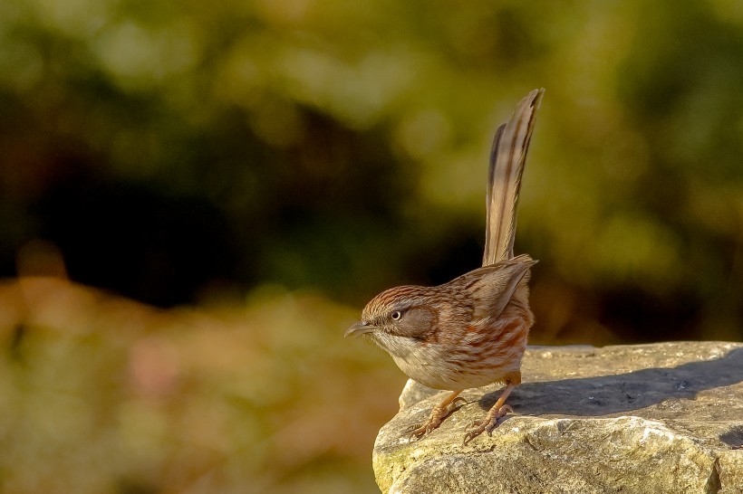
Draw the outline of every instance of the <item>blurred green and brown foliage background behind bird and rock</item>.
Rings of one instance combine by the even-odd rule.
[[[545,100],[535,344],[743,338],[743,3],[0,3],[0,490],[376,492],[374,294],[478,267]]]

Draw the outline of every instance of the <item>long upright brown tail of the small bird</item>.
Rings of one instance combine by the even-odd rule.
[[[526,151],[536,121],[536,110],[544,89],[533,90],[518,103],[516,111],[497,128],[490,152],[487,180],[487,224],[482,265],[495,264],[514,257],[516,206]]]

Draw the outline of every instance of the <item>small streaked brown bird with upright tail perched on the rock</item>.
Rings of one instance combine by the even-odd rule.
[[[536,110],[544,90],[531,91],[507,124],[496,131],[487,182],[483,267],[437,287],[402,286],[381,292],[345,336],[366,335],[386,350],[402,372],[451,393],[412,431],[420,437],[439,427],[468,388],[505,383],[506,388],[465,442],[497,426],[511,407],[508,394],[521,383],[521,357],[534,316],[528,281],[536,263],[514,256],[516,205]]]

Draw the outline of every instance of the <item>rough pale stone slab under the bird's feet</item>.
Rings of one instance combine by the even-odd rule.
[[[382,427],[382,492],[743,492],[743,344],[530,347],[492,436],[462,443],[499,386],[422,439],[405,431],[443,396],[409,381]]]

